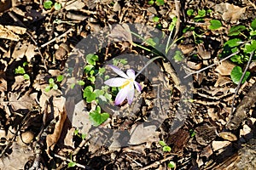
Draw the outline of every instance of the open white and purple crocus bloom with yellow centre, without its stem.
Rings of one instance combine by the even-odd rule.
[[[119,70],[118,67],[109,65],[112,70],[117,73],[120,77],[110,78],[104,83],[110,87],[120,87],[120,91],[117,94],[114,104],[119,105],[125,99],[128,100],[128,104],[131,105],[132,99],[134,97],[134,87],[138,92],[142,91],[141,85],[135,81],[135,71],[129,69],[125,72]]]

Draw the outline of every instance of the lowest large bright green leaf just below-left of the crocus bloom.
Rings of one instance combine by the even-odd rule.
[[[97,106],[96,111],[90,112],[89,119],[94,126],[99,126],[109,117],[108,113],[101,113],[100,106]]]

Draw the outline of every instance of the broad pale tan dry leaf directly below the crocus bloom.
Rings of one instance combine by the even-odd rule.
[[[143,127],[143,124],[139,124],[131,128],[129,144],[143,144],[155,141],[159,141],[159,133],[156,132],[154,125]]]

